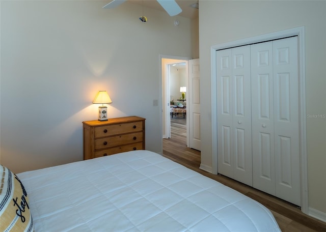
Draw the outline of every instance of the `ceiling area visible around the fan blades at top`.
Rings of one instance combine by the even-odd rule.
[[[165,11],[161,5],[157,3],[155,0],[128,0],[131,3],[143,5],[144,7]],[[110,2],[110,0],[108,1]],[[178,14],[179,16],[185,18],[196,18],[198,17],[198,9],[193,8],[192,5],[198,3],[198,0],[176,0],[177,4],[182,9],[182,12]]]

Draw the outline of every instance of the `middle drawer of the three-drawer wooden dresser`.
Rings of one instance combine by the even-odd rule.
[[[105,138],[95,139],[95,150],[116,147],[123,144],[133,143],[133,142],[142,142],[143,141],[143,132],[132,133],[132,134],[123,134]]]

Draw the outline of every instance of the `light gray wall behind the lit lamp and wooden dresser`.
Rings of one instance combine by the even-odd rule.
[[[161,152],[159,54],[192,56],[192,20],[145,8],[142,23],[141,5],[103,5],[1,2],[1,163],[14,172],[82,160],[99,90],[108,117],[146,118],[146,149]]]

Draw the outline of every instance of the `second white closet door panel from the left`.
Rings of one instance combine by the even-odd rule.
[[[250,45],[232,48],[234,179],[252,186]]]

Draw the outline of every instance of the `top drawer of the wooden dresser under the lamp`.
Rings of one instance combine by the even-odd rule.
[[[95,128],[95,138],[110,136],[134,131],[142,131],[143,122],[122,123],[114,125],[105,125]]]

